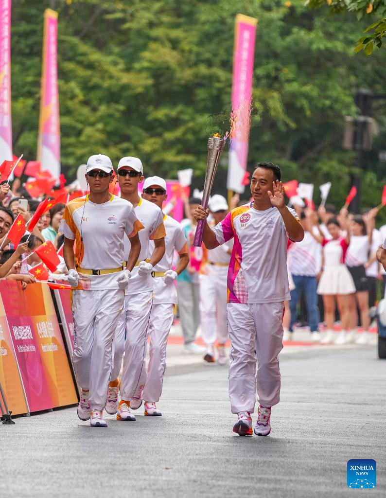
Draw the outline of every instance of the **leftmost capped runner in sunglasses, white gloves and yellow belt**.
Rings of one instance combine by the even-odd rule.
[[[113,338],[124,307],[125,289],[137,260],[140,243],[132,205],[109,193],[113,165],[98,154],[87,161],[90,194],[67,204],[59,232],[68,283],[74,288],[72,310],[75,351],[72,357],[81,387],[78,416],[93,427],[106,427],[103,409],[112,369]],[[130,252],[124,264],[124,238]],[[74,239],[76,250],[74,257]]]

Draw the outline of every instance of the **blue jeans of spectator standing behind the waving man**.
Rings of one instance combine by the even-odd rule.
[[[301,275],[292,275],[293,283],[296,288],[291,290],[291,301],[289,309],[291,310],[291,323],[289,330],[292,331],[293,324],[296,322],[296,305],[300,299],[301,293],[304,291],[304,297],[307,306],[308,324],[311,332],[318,330],[319,324],[319,308],[317,305],[317,281],[316,277],[305,277]]]

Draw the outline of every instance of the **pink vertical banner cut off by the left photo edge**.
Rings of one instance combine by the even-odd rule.
[[[0,0],[0,163],[12,159],[11,0]]]

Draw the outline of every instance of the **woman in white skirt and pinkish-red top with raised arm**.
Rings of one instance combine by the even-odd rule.
[[[319,280],[318,294],[323,296],[324,321],[327,332],[321,343],[334,342],[335,306],[337,303],[341,317],[342,328],[347,330],[350,326],[350,294],[355,292],[353,279],[345,263],[346,252],[350,244],[350,230],[348,212],[342,208],[340,212],[341,224],[336,218],[327,223],[327,230],[331,239],[327,240],[323,234],[320,237],[313,234],[314,238],[323,246],[322,275]],[[342,235],[342,230],[345,235]],[[311,231],[311,233],[313,233]]]

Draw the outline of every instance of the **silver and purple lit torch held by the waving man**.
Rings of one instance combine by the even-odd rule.
[[[202,196],[202,207],[204,209],[207,209],[208,207],[217,166],[219,165],[221,152],[223,151],[227,137],[228,133],[225,134],[224,138],[221,138],[218,133],[215,133],[213,136],[208,138],[208,160],[206,163],[204,193]],[[196,234],[193,241],[193,246],[195,247],[201,247],[205,223],[205,220],[199,220],[197,223]]]

